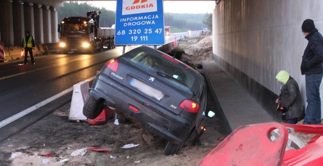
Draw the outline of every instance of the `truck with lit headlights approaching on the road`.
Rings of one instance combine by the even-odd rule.
[[[59,47],[67,54],[70,51],[102,51],[103,47],[116,48],[115,25],[111,28],[99,27],[101,12],[89,11],[86,17],[67,17],[58,25]]]

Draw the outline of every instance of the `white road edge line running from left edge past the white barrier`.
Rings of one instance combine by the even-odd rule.
[[[94,78],[95,78],[95,77],[96,77],[96,76],[92,76],[92,77],[90,77],[90,78],[88,78],[88,79],[85,79],[85,81],[91,81],[91,80],[94,80]],[[19,118],[21,118],[21,117],[23,117],[23,116],[25,116],[25,115],[27,115],[27,114],[29,114],[29,113],[31,113],[31,112],[33,112],[33,111],[35,111],[35,110],[37,110],[38,108],[40,108],[40,107],[42,107],[42,106],[44,106],[44,105],[46,105],[46,104],[48,104],[48,103],[50,103],[50,102],[52,102],[52,101],[54,101],[54,100],[58,99],[58,98],[60,98],[60,97],[62,97],[62,96],[64,96],[64,95],[66,95],[66,94],[68,94],[68,93],[70,93],[70,92],[72,92],[72,91],[73,91],[73,87],[71,87],[71,88],[69,88],[69,89],[66,89],[66,90],[64,90],[64,91],[62,91],[62,92],[60,92],[60,93],[58,93],[58,94],[56,94],[56,95],[54,95],[54,96],[52,96],[52,97],[50,97],[50,98],[48,98],[48,99],[44,100],[44,101],[42,101],[42,102],[39,102],[39,103],[37,103],[37,104],[35,104],[35,105],[33,105],[33,106],[31,106],[31,107],[27,108],[27,109],[26,109],[26,110],[24,110],[24,111],[19,112],[18,114],[15,114],[15,115],[13,115],[13,116],[11,116],[11,117],[9,117],[9,118],[7,118],[7,119],[5,119],[5,120],[1,121],[1,122],[0,122],[0,128],[2,128],[2,127],[4,127],[4,126],[8,125],[8,124],[9,124],[9,123],[11,123],[11,122],[14,122],[15,120],[17,120],[17,119],[19,119]]]

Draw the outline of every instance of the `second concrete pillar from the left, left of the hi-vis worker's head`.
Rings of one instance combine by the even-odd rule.
[[[21,2],[14,2],[13,7],[13,26],[14,26],[14,44],[21,45],[22,38],[25,35],[24,26],[24,6]]]

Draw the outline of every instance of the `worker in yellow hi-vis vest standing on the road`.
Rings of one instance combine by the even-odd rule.
[[[32,51],[35,50],[35,41],[32,38],[32,36],[30,36],[28,31],[26,32],[26,35],[22,39],[21,51],[23,51],[24,49],[25,49],[25,62],[24,62],[24,64],[27,64],[28,52],[29,52],[29,55],[30,55],[31,64],[35,64],[34,56],[32,55]]]

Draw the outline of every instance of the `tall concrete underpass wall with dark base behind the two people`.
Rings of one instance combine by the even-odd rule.
[[[213,11],[214,59],[278,118],[279,70],[290,72],[306,99],[300,63],[307,45],[301,25],[308,18],[322,33],[323,1],[223,0]]]

